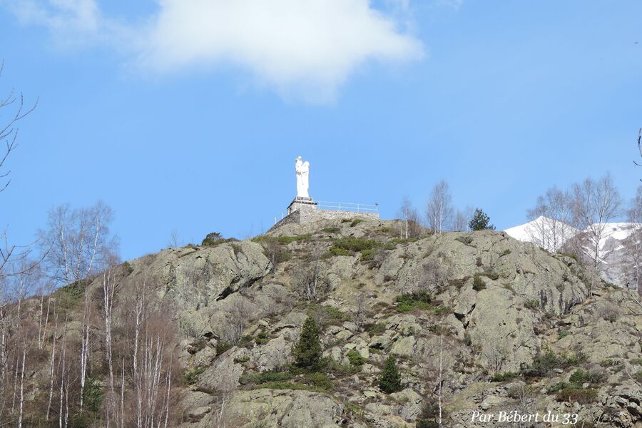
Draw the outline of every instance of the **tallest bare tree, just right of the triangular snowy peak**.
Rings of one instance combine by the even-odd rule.
[[[607,223],[619,215],[621,204],[620,193],[609,174],[597,181],[586,178],[573,186],[574,223],[576,228],[584,230],[579,239],[581,255],[596,272],[601,271],[601,263],[608,256],[602,251],[603,242],[608,238]]]

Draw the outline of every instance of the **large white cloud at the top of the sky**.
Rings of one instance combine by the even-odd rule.
[[[158,0],[148,24],[114,31],[118,26],[102,16],[95,0],[9,0],[21,19],[54,33],[127,44],[148,71],[232,64],[280,93],[317,101],[335,96],[364,63],[422,57],[421,42],[399,28],[399,5],[408,9],[408,0],[387,2],[396,6],[375,9],[370,0]]]

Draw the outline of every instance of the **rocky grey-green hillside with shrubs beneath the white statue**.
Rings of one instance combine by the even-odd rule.
[[[441,384],[445,427],[513,426],[470,422],[513,409],[642,427],[642,307],[630,291],[589,296],[576,260],[504,232],[398,237],[393,221],[327,220],[128,262],[120,290],[154,278],[178,336],[176,426],[429,427]],[[308,300],[297,285],[311,270]],[[87,290],[99,300],[101,278]],[[123,319],[128,299],[115,297]],[[326,357],[317,372],[292,365],[307,317]],[[104,385],[102,346],[90,364]],[[402,389],[387,394],[390,355]],[[36,401],[45,360],[29,377]]]

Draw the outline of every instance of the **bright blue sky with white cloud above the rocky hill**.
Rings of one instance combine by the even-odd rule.
[[[607,170],[633,196],[639,1],[297,1],[0,0],[1,93],[40,100],[0,195],[11,240],[98,199],[123,258],[173,229],[256,235],[298,155],[312,197],[383,218],[442,178],[498,228]]]

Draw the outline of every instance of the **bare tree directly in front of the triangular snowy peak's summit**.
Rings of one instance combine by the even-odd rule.
[[[533,242],[549,251],[559,251],[574,235],[571,194],[556,187],[537,198],[527,214],[533,220],[527,233]]]

